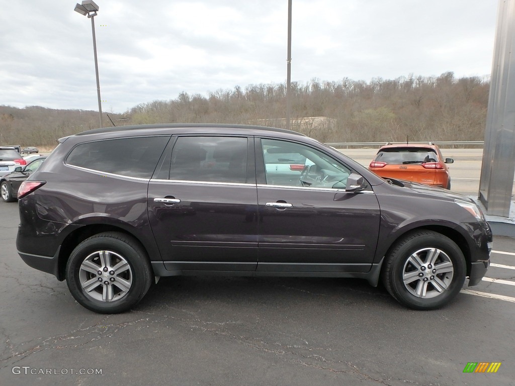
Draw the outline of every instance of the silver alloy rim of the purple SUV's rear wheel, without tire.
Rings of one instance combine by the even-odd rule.
[[[122,299],[132,286],[132,270],[116,252],[96,251],[82,261],[79,282],[86,294],[101,302]]]

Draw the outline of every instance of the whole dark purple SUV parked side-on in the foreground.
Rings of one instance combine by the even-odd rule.
[[[160,276],[360,277],[434,309],[479,283],[492,234],[469,198],[383,180],[302,134],[255,126],[85,131],[19,190],[16,244],[96,312]]]

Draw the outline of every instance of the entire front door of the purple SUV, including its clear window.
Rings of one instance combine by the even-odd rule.
[[[261,138],[255,149],[258,271],[368,272],[380,224],[372,190],[346,192],[353,170],[306,144]],[[279,162],[290,163],[291,181],[277,183]]]

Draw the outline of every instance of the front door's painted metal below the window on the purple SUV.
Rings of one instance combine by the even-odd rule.
[[[267,206],[285,202],[289,208]],[[374,194],[258,186],[258,271],[368,272],[379,234]]]

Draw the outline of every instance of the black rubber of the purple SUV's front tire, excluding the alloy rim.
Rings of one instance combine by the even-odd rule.
[[[442,294],[428,299],[422,299],[411,294],[406,289],[402,278],[404,265],[408,257],[424,248],[437,248],[442,250],[451,259],[454,269],[453,279],[448,289]],[[397,300],[410,308],[423,310],[440,308],[457,295],[465,282],[466,262],[463,253],[454,241],[436,232],[428,232],[411,238],[409,241],[405,242],[395,252],[395,256],[392,257],[394,261],[392,264],[391,277],[389,278],[391,288]]]

